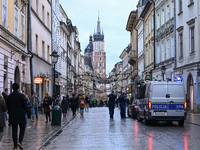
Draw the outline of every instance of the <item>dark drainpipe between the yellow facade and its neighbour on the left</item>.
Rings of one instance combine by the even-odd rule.
[[[33,76],[33,49],[32,49],[32,26],[31,26],[31,0],[28,1],[28,34],[27,34],[27,49],[31,54],[30,57],[30,75],[31,75],[31,95],[34,93],[34,76]]]

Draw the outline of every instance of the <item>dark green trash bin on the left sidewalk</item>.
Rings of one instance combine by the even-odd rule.
[[[55,106],[52,110],[52,122],[51,125],[61,124],[61,109],[59,106]]]

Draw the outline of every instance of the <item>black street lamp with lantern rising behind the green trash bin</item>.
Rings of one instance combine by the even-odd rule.
[[[56,70],[55,70],[55,65],[56,65],[56,63],[57,63],[57,61],[58,61],[59,55],[58,55],[58,52],[57,52],[57,51],[53,51],[52,54],[51,54],[50,56],[51,56],[52,64],[54,65],[54,66],[53,66],[54,74],[53,74],[53,96],[52,96],[52,98],[53,98],[53,100],[55,100],[55,87],[56,87],[56,83],[55,83],[55,80],[56,80],[56,76],[55,76],[55,72],[56,72]]]

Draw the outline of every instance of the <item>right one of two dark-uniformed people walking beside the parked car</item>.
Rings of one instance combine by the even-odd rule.
[[[121,118],[126,118],[126,94],[122,93],[117,99],[117,102],[120,104]]]

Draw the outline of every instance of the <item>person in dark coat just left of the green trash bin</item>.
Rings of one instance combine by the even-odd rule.
[[[48,119],[49,119],[49,122],[51,122],[51,117],[50,117],[51,105],[52,105],[52,99],[49,96],[49,94],[46,93],[44,100],[43,100],[44,113],[46,114],[46,122],[45,123],[48,123]]]

